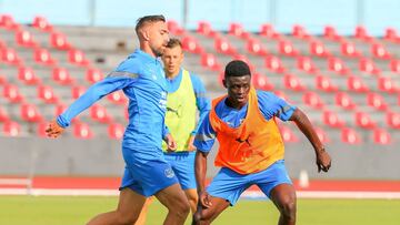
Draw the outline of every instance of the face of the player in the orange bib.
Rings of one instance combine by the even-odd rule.
[[[241,108],[247,104],[251,86],[251,76],[228,76],[223,80],[228,90],[228,99],[233,108]]]

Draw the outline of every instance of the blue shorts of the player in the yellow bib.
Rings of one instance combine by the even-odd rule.
[[[182,190],[192,190],[197,187],[194,157],[196,151],[164,153],[164,158],[171,165]]]

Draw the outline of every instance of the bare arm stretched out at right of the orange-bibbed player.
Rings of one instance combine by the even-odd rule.
[[[293,121],[300,131],[307,136],[307,139],[312,144],[316,156],[317,156],[317,166],[318,172],[328,172],[331,166],[331,157],[328,152],[324,150],[321,141],[319,140],[314,129],[311,125],[310,120],[307,115],[299,109],[296,109],[290,121]]]

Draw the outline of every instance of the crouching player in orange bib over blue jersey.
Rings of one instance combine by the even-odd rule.
[[[193,224],[210,224],[241,193],[256,184],[280,212],[279,224],[296,224],[296,192],[284,168],[284,147],[276,117],[293,121],[311,142],[318,171],[328,172],[331,158],[306,114],[274,94],[251,86],[251,72],[243,61],[224,70],[228,95],[212,101],[209,116],[196,135],[196,178],[199,207]],[[219,141],[216,165],[221,170],[204,188],[207,155]]]

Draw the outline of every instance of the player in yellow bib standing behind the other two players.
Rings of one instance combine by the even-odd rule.
[[[210,100],[206,98],[206,89],[201,80],[183,69],[183,51],[179,39],[170,39],[161,57],[164,64],[169,90],[167,95],[166,124],[176,141],[176,149],[168,149],[163,144],[164,157],[172,166],[178,181],[183,188],[192,213],[196,212],[198,194],[194,177],[194,134],[197,133],[197,111],[199,123],[211,109]],[[151,200],[148,200],[148,203]],[[146,204],[146,207],[149,204]],[[140,224],[143,224],[146,208],[140,215]],[[139,222],[136,223],[139,225]]]

